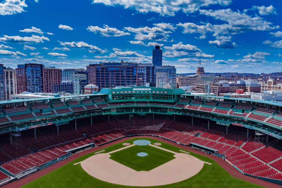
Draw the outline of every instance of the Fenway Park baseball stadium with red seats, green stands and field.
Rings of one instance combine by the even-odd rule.
[[[103,88],[0,102],[3,187],[282,187],[282,103]]]

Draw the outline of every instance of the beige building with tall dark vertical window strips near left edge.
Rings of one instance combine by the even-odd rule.
[[[5,100],[11,100],[11,95],[17,94],[16,70],[4,69]]]

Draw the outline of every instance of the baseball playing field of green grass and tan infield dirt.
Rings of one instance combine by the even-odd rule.
[[[134,144],[137,140],[150,144]],[[153,138],[131,138],[101,150],[105,151],[81,156],[22,187],[262,187],[232,177],[213,159]]]

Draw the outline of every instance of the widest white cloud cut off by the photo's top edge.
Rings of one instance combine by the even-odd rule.
[[[155,12],[162,16],[174,16],[176,12],[184,13],[196,12],[200,7],[209,6],[211,4],[228,5],[231,0],[201,0],[201,1],[154,1],[147,0],[142,3],[138,0],[93,0],[93,3],[103,3],[107,6],[121,5],[124,8],[135,9],[140,13]]]

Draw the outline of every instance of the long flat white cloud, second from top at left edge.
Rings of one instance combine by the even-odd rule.
[[[50,41],[47,37],[44,36],[37,36],[37,35],[32,35],[31,37],[20,37],[20,36],[7,36],[3,35],[4,37],[0,37],[0,41],[2,42],[24,42],[24,43],[39,43],[39,42],[44,42],[44,40]]]

